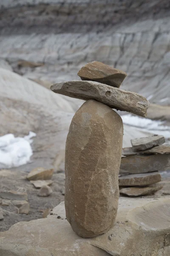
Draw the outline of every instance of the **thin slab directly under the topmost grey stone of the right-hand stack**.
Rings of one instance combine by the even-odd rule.
[[[170,145],[160,145],[154,148],[149,148],[144,151],[133,151],[132,147],[123,148],[122,155],[131,156],[134,154],[170,154]]]

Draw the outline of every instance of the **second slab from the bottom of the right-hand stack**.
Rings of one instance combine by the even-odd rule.
[[[119,177],[119,186],[146,186],[161,181],[159,172],[129,174]]]

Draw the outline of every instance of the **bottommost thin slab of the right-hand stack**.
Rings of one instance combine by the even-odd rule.
[[[128,187],[128,188],[120,188],[120,194],[122,195],[128,195],[131,197],[135,196],[142,196],[142,195],[152,195],[158,190],[162,189],[163,185],[156,183],[149,186],[134,186],[134,187]]]

